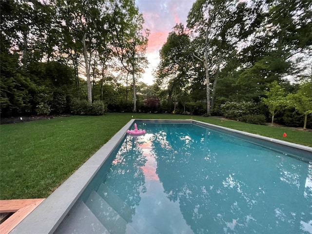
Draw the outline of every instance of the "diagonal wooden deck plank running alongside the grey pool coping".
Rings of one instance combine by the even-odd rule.
[[[27,199],[28,200],[28,199]],[[35,200],[35,199],[32,199]],[[7,220],[5,220],[0,225],[0,234],[8,234],[11,232],[27,215],[29,215],[42,201],[44,198],[37,199],[30,205],[27,205],[13,215],[11,215]]]

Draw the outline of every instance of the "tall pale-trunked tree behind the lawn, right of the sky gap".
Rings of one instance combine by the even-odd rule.
[[[220,69],[233,59],[240,50],[239,43],[257,26],[258,8],[259,4],[250,7],[241,1],[197,0],[189,12],[187,26],[193,33],[193,55],[205,68],[208,116],[215,107]]]

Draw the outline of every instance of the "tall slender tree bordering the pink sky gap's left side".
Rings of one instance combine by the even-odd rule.
[[[134,0],[112,1],[110,29],[115,54],[133,81],[133,111],[137,112],[136,73],[143,73],[149,30],[143,29],[143,15]]]

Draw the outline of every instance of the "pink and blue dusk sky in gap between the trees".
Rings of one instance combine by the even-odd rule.
[[[141,81],[153,84],[153,69],[159,63],[159,50],[166,42],[168,34],[176,23],[186,26],[187,15],[195,0],[136,0],[140,13],[143,14],[144,28],[151,31],[146,51],[149,60]]]

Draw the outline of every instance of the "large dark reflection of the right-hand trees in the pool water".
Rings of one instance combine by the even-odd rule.
[[[311,162],[195,125],[153,130],[156,173],[194,233],[312,233]]]

